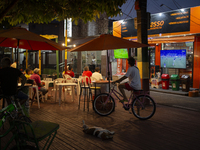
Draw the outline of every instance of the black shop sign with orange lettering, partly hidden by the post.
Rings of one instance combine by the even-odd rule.
[[[148,35],[190,31],[190,8],[151,15]],[[137,36],[134,19],[121,23],[121,37]]]

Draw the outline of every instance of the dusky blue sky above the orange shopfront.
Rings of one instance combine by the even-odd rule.
[[[121,9],[127,15],[113,17],[112,19],[121,20],[121,19],[130,19],[136,17],[135,11],[135,0],[127,0],[127,2],[122,5]],[[164,4],[160,7],[161,4]],[[159,12],[166,12],[181,9],[181,8],[188,8],[188,7],[195,7],[200,6],[200,0],[147,0],[147,12],[151,14],[159,13]],[[130,17],[129,17],[130,16]]]

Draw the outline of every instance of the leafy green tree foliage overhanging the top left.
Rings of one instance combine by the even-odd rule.
[[[56,19],[95,20],[106,12],[113,17],[120,13],[119,8],[126,0],[3,0],[0,1],[0,23],[48,23]]]

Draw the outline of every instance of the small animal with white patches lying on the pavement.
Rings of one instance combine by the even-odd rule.
[[[114,131],[109,131],[107,129],[103,129],[101,127],[88,127],[83,120],[83,132],[86,134],[94,135],[102,140],[112,139],[115,134]]]

